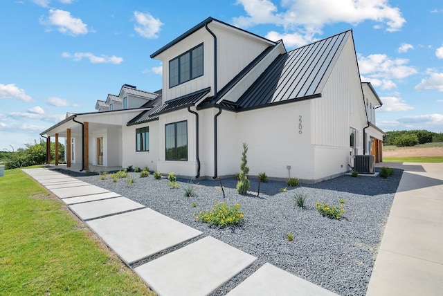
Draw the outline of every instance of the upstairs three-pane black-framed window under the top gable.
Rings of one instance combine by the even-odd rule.
[[[203,44],[169,61],[169,87],[203,75]]]

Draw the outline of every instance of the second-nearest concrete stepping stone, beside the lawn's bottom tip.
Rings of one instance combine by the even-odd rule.
[[[213,292],[255,259],[218,239],[205,237],[134,270],[159,295],[198,296]]]

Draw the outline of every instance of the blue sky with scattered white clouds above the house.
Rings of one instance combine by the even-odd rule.
[[[6,0],[0,9],[0,149],[39,141],[66,112],[95,111],[123,84],[161,89],[150,54],[207,17],[288,50],[353,30],[384,131],[443,132],[443,1]]]

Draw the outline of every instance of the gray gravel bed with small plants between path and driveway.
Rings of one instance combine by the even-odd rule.
[[[165,178],[155,180],[152,174],[140,178],[131,173],[135,183],[126,179],[113,183],[110,177],[76,176],[132,199],[181,223],[191,226],[257,257],[257,261],[221,286],[213,295],[224,295],[269,262],[293,275],[307,279],[339,295],[365,295],[379,243],[402,171],[387,179],[380,177],[340,176],[302,187],[287,187],[283,181],[262,183],[260,197],[239,195],[233,178],[219,181],[179,179],[181,185],[171,189]],[[195,196],[186,197],[184,189],[193,186]],[[251,191],[257,191],[257,180],[251,180]],[[307,195],[306,207],[293,201],[296,192]],[[325,201],[338,205],[343,199],[345,213],[341,220],[328,219],[316,210],[315,203]],[[239,203],[245,216],[241,225],[218,228],[195,221],[192,213],[210,210],[215,200]],[[195,204],[195,207],[192,205]],[[286,234],[294,235],[293,241]]]

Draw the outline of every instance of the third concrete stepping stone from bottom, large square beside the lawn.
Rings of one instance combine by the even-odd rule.
[[[127,264],[201,234],[150,208],[87,221],[87,224]]]

